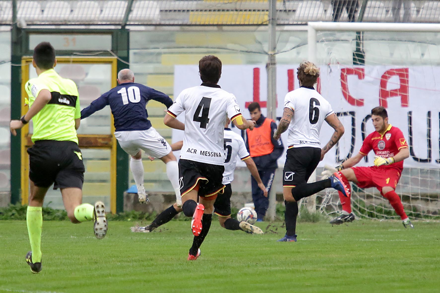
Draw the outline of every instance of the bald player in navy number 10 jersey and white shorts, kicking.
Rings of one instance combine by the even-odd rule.
[[[151,127],[145,108],[149,100],[156,100],[167,108],[172,99],[162,92],[135,83],[132,70],[123,69],[117,74],[118,86],[95,99],[90,106],[81,111],[81,119],[110,105],[114,117],[114,136],[122,149],[131,155],[130,169],[135,179],[140,202],[148,202],[143,187],[142,152],[160,158],[166,164],[166,174],[176,193],[176,201],[182,205],[179,188],[177,160],[167,141]]]

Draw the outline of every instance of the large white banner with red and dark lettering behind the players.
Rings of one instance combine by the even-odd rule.
[[[277,116],[282,116],[284,96],[298,88],[297,65],[277,66]],[[174,68],[174,98],[185,89],[201,84],[198,66],[176,65]],[[242,114],[249,118],[247,105],[259,102],[266,116],[267,73],[265,65],[225,65],[219,85],[233,93]],[[345,157],[359,152],[363,138],[374,131],[370,111],[376,106],[388,110],[389,123],[400,128],[410,145],[411,156],[405,167],[440,168],[440,67],[432,66],[322,66],[317,89],[340,115],[345,134],[319,166],[338,165]],[[183,119],[183,114],[179,119]],[[279,118],[278,118],[279,119]],[[237,133],[240,131],[233,128]],[[333,128],[324,123],[321,146],[325,145]],[[183,132],[173,130],[172,141],[183,139]],[[282,135],[287,141],[287,132]],[[360,166],[372,165],[373,152]],[[279,159],[284,165],[285,154]]]

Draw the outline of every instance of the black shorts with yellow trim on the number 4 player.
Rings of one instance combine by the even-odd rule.
[[[179,182],[182,197],[197,188],[198,196],[210,197],[223,193],[224,166],[206,164],[191,160],[179,160]]]

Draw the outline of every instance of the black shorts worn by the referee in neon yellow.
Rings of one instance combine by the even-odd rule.
[[[84,183],[84,163],[81,150],[73,141],[37,140],[27,150],[29,179],[35,186],[54,189],[77,187]]]

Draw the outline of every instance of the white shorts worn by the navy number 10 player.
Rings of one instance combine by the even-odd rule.
[[[114,133],[122,149],[131,156],[144,150],[151,157],[164,157],[171,152],[169,143],[154,129],[118,131]]]

